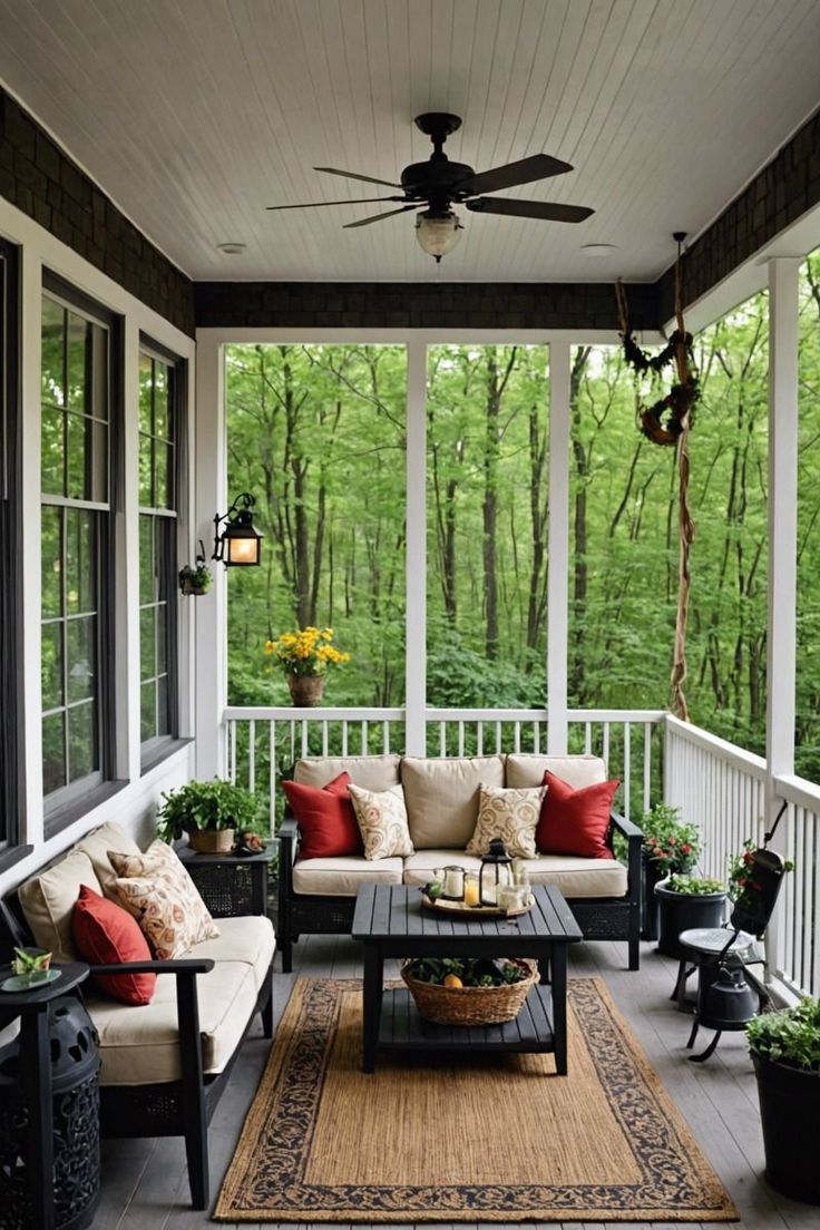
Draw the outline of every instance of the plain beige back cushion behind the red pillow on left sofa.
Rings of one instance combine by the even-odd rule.
[[[95,893],[102,893],[89,855],[74,849],[37,872],[17,891],[34,943],[50,952],[55,962],[77,959],[71,914],[84,884]]]

